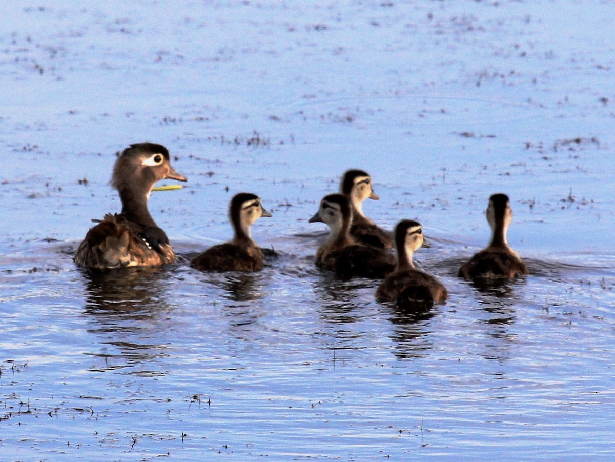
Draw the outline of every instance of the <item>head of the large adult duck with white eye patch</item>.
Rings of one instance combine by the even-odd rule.
[[[135,191],[149,196],[159,180],[186,181],[170,164],[169,150],[156,143],[137,143],[124,149],[113,167],[113,186],[122,195]]]

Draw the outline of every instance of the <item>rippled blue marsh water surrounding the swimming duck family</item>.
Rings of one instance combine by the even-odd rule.
[[[613,5],[575,3],[3,2],[2,458],[612,460]],[[75,268],[144,140],[189,180],[150,201],[181,261]],[[446,305],[314,268],[351,167],[368,216],[423,223]],[[240,190],[280,257],[188,268]],[[531,275],[478,290],[499,191]]]

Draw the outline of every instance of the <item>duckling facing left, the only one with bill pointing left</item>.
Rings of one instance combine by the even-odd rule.
[[[351,237],[352,206],[343,194],[328,194],[310,223],[326,223],[331,231],[316,252],[315,263],[342,279],[352,276],[384,277],[395,268],[391,253],[378,247],[360,245]]]

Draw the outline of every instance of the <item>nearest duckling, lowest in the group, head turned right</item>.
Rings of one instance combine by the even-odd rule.
[[[420,247],[429,247],[423,238],[423,228],[414,220],[402,220],[395,226],[397,266],[376,290],[381,301],[424,301],[444,303],[448,298],[446,287],[431,274],[415,268],[412,254]]]

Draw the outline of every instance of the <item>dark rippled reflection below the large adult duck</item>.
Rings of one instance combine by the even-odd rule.
[[[85,281],[84,314],[92,320],[88,332],[100,337],[105,345],[100,352],[93,353],[93,356],[105,360],[105,365],[97,370],[134,368],[148,363],[146,370],[132,370],[130,373],[167,373],[151,367],[151,363],[167,356],[169,348],[164,326],[167,314],[175,308],[167,301],[170,270],[126,268],[84,270],[82,274]]]

